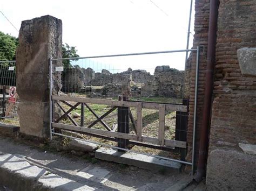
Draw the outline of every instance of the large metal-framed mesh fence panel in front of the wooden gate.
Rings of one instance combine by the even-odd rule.
[[[127,59],[131,55],[178,52],[197,52],[196,105],[199,47],[178,51],[52,59],[50,68],[52,65],[58,67],[50,69],[50,79],[53,77],[50,84],[55,84],[57,77],[62,87],[59,93],[52,89],[50,139],[52,135],[72,138],[70,133],[78,132],[82,140],[90,143],[192,165],[193,174],[196,115],[193,116],[193,146],[190,148],[187,146],[188,100],[182,94],[184,73],[173,69],[170,62],[161,63],[160,59],[155,68],[143,67],[149,66],[146,64],[132,69]],[[113,60],[104,61],[106,58]],[[63,63],[63,69],[60,62]],[[196,110],[195,106],[195,114]],[[192,150],[191,161],[186,161],[187,150]]]

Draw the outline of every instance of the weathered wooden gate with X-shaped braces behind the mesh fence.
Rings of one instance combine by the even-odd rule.
[[[69,110],[65,110],[60,102],[69,106]],[[75,104],[71,104],[75,103]],[[89,104],[102,104],[108,105],[110,109],[105,112],[104,115],[98,116]],[[182,104],[167,104],[167,103],[151,103],[151,102],[139,102],[139,101],[129,101],[120,99],[119,101],[113,100],[103,100],[95,98],[83,98],[83,97],[65,97],[65,96],[52,96],[52,105],[58,106],[64,114],[52,121],[52,128],[55,130],[68,130],[73,132],[84,133],[86,135],[104,138],[108,140],[113,140],[118,142],[120,147],[128,147],[129,143],[134,145],[142,145],[148,147],[158,147],[163,150],[174,149],[174,148],[186,148],[186,141],[181,140],[171,140],[165,138],[165,112],[166,111],[178,111],[187,112],[187,105]],[[81,119],[80,124],[70,116],[70,112],[78,108],[81,105]],[[97,118],[91,124],[84,125],[84,108],[89,109],[89,111]],[[137,110],[137,120],[134,121],[131,115],[130,108],[136,108]],[[109,115],[112,111],[118,109],[118,123],[113,127],[110,127],[104,122],[104,117]],[[158,124],[158,137],[147,137],[142,135],[142,122],[143,115],[142,109],[153,109],[159,111],[159,124]],[[55,109],[53,109],[54,111]],[[54,115],[54,114],[53,114]],[[60,123],[63,118],[68,118],[72,125]],[[132,126],[136,135],[129,133],[129,118],[131,119]],[[101,123],[106,130],[92,129],[92,127]],[[117,132],[115,132],[118,129]]]

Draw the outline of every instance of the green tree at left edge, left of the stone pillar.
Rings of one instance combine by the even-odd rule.
[[[15,60],[18,38],[0,31],[0,60]]]

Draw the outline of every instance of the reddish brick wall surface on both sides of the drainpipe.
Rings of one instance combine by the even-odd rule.
[[[193,48],[204,45],[200,53],[198,108],[196,131],[196,164],[198,159],[199,136],[203,116],[204,84],[208,36],[210,1],[196,0]],[[256,47],[256,1],[220,1],[216,62],[214,64],[214,84],[212,96],[212,116],[210,129],[210,151],[216,147],[234,147],[238,143],[256,143],[256,77],[242,75],[237,50]],[[194,81],[196,54],[187,61],[185,73],[185,97],[190,98],[188,118],[188,154],[191,160]]]

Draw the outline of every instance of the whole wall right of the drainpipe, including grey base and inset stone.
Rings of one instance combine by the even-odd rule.
[[[256,155],[240,146],[256,144],[255,12],[255,0],[220,1],[207,190],[256,189]]]

